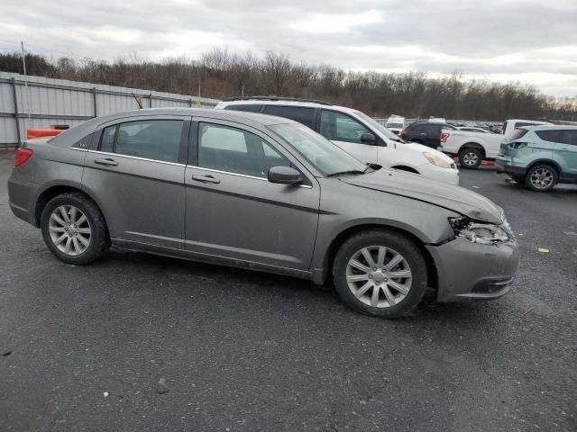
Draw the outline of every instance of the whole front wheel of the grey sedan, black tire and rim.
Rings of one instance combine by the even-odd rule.
[[[370,255],[374,266],[367,266],[370,263],[363,251]],[[364,270],[357,267],[359,264]],[[386,268],[388,265],[392,266]],[[398,276],[391,277],[392,274]],[[341,300],[354,311],[398,318],[415,309],[425,295],[426,262],[418,247],[405,236],[384,229],[367,230],[354,234],[339,248],[334,257],[333,280]]]

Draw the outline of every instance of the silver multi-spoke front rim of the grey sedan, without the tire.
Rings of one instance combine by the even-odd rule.
[[[390,247],[362,247],[346,266],[349,289],[360,302],[373,308],[389,308],[402,302],[412,277],[405,257]]]

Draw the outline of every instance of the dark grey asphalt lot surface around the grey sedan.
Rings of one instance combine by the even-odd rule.
[[[577,185],[462,170],[517,233],[512,291],[380,320],[289,277],[122,251],[65,265],[10,211],[13,157],[2,431],[577,430]]]

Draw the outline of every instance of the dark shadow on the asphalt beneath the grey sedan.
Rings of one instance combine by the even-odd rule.
[[[186,259],[173,257],[160,257],[143,252],[124,251],[112,249],[103,259],[92,265],[97,273],[106,273],[114,269],[122,268],[125,277],[139,277],[151,281],[145,284],[145,289],[150,286],[151,291],[158,291],[159,287],[154,284],[159,277],[164,278],[163,286],[173,283],[177,286],[171,290],[172,294],[186,295],[187,298],[194,294],[197,287],[207,289],[231,289],[230,295],[249,295],[251,299],[261,298],[262,302],[279,307],[283,314],[291,307],[302,308],[307,304],[307,309],[317,311],[326,317],[332,315],[332,320],[342,320],[343,317],[353,320],[381,320],[379,318],[363,316],[348,308],[341,302],[334,290],[331,281],[323,286],[313,284],[304,279],[285,275],[274,275],[259,271],[240,269],[229,266],[217,266]],[[91,266],[91,267],[92,267]],[[182,288],[188,288],[182,290]],[[142,286],[139,288],[142,290]],[[275,299],[282,298],[292,302],[280,304]],[[313,303],[310,305],[310,303]],[[464,302],[464,303],[437,303],[434,300],[424,299],[406,317],[394,320],[399,324],[433,322],[444,325],[455,321],[484,321],[495,320],[499,315],[499,308],[494,307],[495,302]],[[270,310],[272,313],[279,311]],[[381,320],[383,322],[392,322]],[[453,324],[452,324],[453,325]]]

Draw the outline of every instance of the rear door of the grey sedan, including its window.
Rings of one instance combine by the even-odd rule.
[[[83,188],[111,238],[184,248],[190,117],[136,116],[103,125],[85,157]]]

